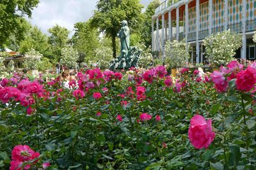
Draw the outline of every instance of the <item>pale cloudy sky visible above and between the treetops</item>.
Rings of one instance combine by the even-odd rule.
[[[141,4],[147,6],[150,1],[141,0]],[[29,21],[44,33],[55,24],[72,31],[76,22],[84,22],[92,17],[96,4],[97,0],[40,0]]]

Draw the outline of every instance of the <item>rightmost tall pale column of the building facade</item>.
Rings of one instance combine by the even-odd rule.
[[[242,45],[242,53],[241,59],[246,59],[246,0],[243,0],[243,45]]]

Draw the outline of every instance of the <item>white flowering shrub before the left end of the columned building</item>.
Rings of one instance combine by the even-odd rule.
[[[164,47],[164,64],[171,68],[183,67],[189,58],[189,48],[184,41],[167,41]]]

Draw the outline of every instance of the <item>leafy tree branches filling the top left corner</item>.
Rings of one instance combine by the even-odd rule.
[[[22,38],[26,31],[24,15],[31,17],[31,11],[39,3],[39,0],[0,1],[0,46],[8,44],[11,34],[17,39]]]

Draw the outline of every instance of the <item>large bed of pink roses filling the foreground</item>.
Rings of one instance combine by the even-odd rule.
[[[182,69],[175,80],[163,66],[77,78],[74,90],[59,78],[0,82],[1,168],[256,167],[255,63]]]

